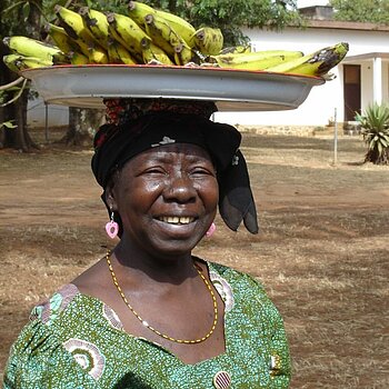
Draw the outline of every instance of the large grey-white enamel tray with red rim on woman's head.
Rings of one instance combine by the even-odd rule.
[[[168,66],[86,64],[28,69],[47,103],[103,108],[103,98],[212,100],[220,111],[298,108],[322,78],[265,71]]]

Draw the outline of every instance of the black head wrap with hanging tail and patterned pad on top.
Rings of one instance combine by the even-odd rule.
[[[251,233],[258,232],[247,164],[239,150],[241,134],[232,126],[209,120],[217,110],[215,103],[124,99],[106,104],[107,124],[94,137],[92,157],[92,171],[101,187],[107,187],[113,171],[142,151],[169,143],[197,144],[209,152],[216,166],[219,213],[226,225],[237,231],[243,221]]]

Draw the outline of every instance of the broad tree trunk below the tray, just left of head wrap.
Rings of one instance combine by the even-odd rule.
[[[68,146],[91,146],[93,136],[104,120],[104,111],[96,109],[69,109],[69,129],[60,140]]]

